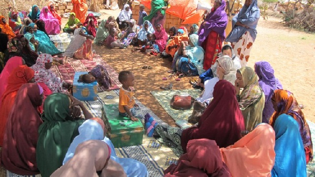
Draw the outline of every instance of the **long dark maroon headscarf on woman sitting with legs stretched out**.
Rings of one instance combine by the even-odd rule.
[[[213,91],[213,100],[201,116],[198,126],[185,129],[181,145],[186,152],[189,140],[207,138],[215,140],[220,148],[233,145],[245,130],[244,117],[235,96],[234,86],[219,81]]]

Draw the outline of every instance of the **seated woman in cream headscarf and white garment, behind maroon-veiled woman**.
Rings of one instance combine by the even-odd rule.
[[[208,102],[208,100],[213,97],[213,90],[219,80],[224,79],[231,84],[235,83],[236,68],[232,59],[228,56],[222,56],[217,59],[216,62],[218,66],[216,68],[212,68],[214,71],[213,75],[215,77],[206,81],[202,96],[196,98],[199,102]]]

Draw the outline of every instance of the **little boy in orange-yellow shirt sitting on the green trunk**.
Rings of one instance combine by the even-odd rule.
[[[138,118],[134,117],[134,107],[139,106],[135,103],[133,92],[130,89],[134,86],[134,75],[130,71],[122,71],[119,73],[118,80],[123,85],[119,90],[119,114],[129,117],[132,121],[138,121]]]

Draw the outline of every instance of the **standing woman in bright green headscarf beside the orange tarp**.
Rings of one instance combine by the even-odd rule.
[[[157,30],[156,26],[158,24],[164,27],[166,20],[165,11],[167,8],[167,2],[165,0],[152,0],[150,15],[144,17],[143,21],[150,21],[155,31]]]

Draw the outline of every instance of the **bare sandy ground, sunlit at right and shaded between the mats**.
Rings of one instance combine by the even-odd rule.
[[[101,10],[101,19],[114,15],[119,10]],[[63,19],[63,26],[67,19]],[[275,75],[282,82],[284,89],[294,93],[298,102],[306,107],[303,110],[307,119],[315,122],[315,34],[283,27],[281,19],[269,17],[267,21],[260,19],[257,27],[257,38],[254,42],[248,66],[253,67],[256,61],[269,61],[275,69]],[[189,89],[189,78],[162,81],[169,74],[171,62],[158,57],[147,57],[143,54],[131,54],[126,50],[109,50],[105,47],[94,47],[107,63],[117,72],[130,70],[135,74],[136,98],[150,108],[159,118],[175,125],[174,120],[158,104],[150,91],[160,90],[160,86],[173,83],[173,89]],[[153,69],[144,70],[142,66],[151,65]],[[313,69],[312,69],[313,68]],[[5,177],[5,170],[0,167],[0,177]]]

